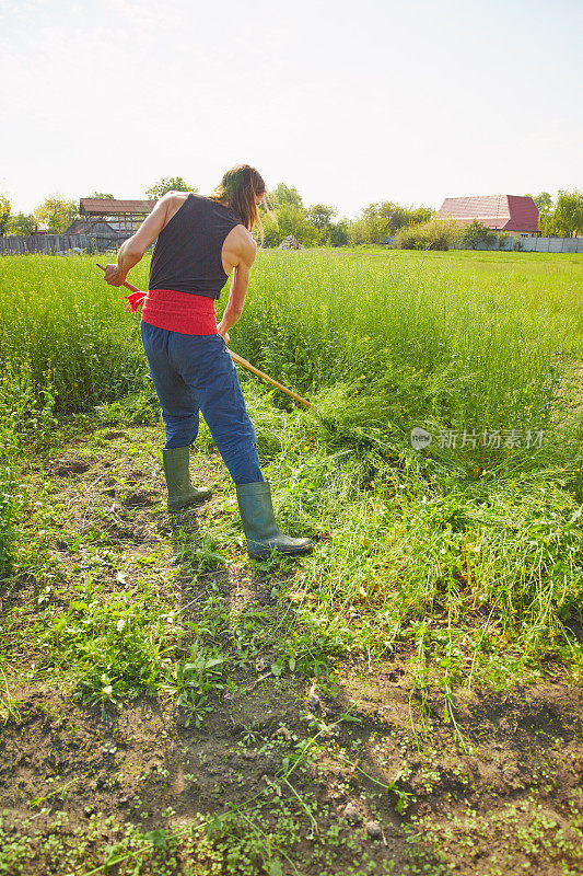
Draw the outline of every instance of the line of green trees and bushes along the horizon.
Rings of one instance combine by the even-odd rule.
[[[198,192],[182,176],[164,176],[148,188],[144,196],[158,200],[166,192]],[[114,195],[93,192],[86,197],[114,198]],[[539,230],[544,235],[576,237],[583,234],[583,192],[560,191],[553,201],[548,192],[533,197],[539,209]],[[261,206],[264,245],[278,246],[292,235],[304,246],[347,246],[382,243],[386,238],[412,240],[413,229],[425,237],[442,237],[439,224],[433,228],[436,212],[431,207],[404,207],[389,200],[369,204],[355,219],[338,218],[337,209],[327,204],[304,204],[298,188],[280,183],[267,194],[267,207]],[[0,194],[0,234],[32,234],[39,226],[49,233],[62,233],[79,218],[78,201],[50,195],[32,214],[11,210],[10,200]],[[443,220],[441,220],[443,221]],[[479,222],[473,223],[473,240],[486,234]],[[423,239],[418,234],[417,239]],[[412,244],[411,244],[412,245]]]

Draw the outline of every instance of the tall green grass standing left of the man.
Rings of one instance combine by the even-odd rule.
[[[138,325],[124,290],[91,258],[31,255],[0,261],[0,368],[27,370],[57,407],[115,399],[141,385]]]

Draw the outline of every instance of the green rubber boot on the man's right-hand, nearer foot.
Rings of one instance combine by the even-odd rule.
[[[291,539],[279,531],[267,481],[237,484],[236,491],[250,557],[261,560],[269,556],[273,548],[282,554],[310,553],[313,546],[310,539]]]

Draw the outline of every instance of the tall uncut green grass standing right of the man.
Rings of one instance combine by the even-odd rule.
[[[546,420],[558,354],[582,351],[569,270],[485,275],[447,256],[269,254],[233,341],[303,391],[361,381],[361,394],[383,396],[385,419]]]

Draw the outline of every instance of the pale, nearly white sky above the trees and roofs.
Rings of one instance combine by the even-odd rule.
[[[0,191],[373,200],[583,188],[581,0],[0,0]]]

